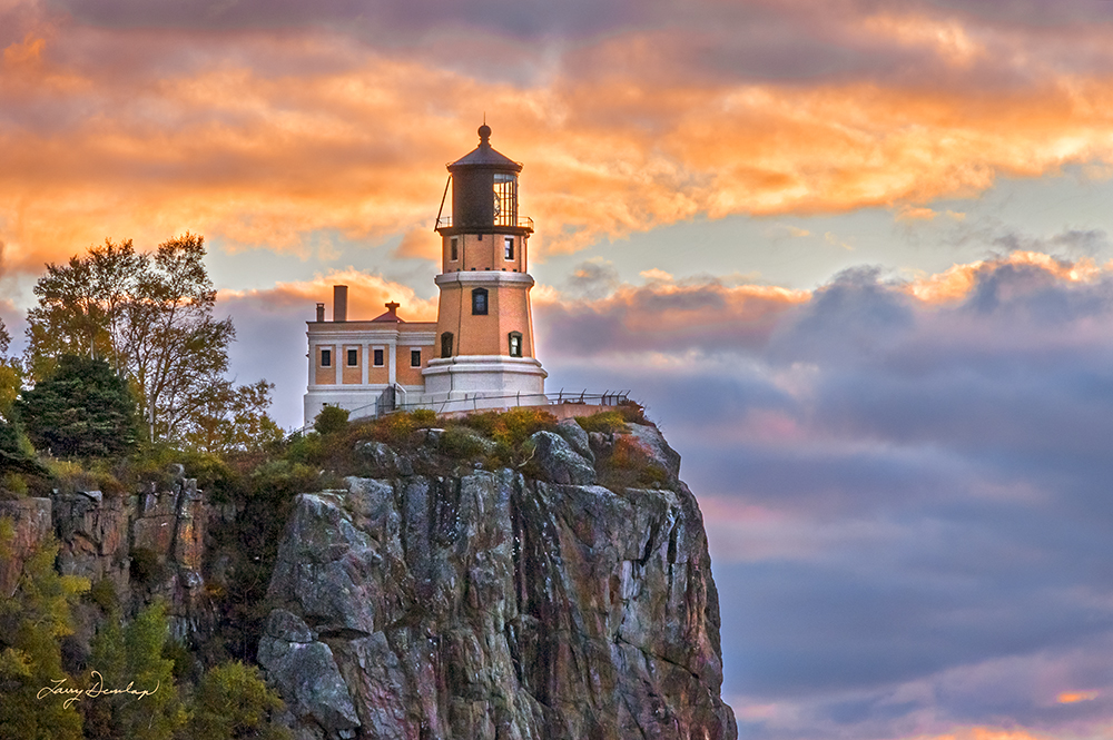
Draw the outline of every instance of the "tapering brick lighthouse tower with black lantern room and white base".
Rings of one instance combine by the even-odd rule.
[[[533,355],[528,241],[533,220],[518,211],[519,162],[491,147],[491,127],[480,145],[449,165],[452,213],[436,219],[441,274],[436,285],[435,358],[422,371],[432,398],[544,403],[548,373]]]

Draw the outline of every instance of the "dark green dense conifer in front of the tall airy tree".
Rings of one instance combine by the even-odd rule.
[[[63,355],[17,404],[31,442],[68,457],[108,457],[136,444],[135,402],[104,359]]]

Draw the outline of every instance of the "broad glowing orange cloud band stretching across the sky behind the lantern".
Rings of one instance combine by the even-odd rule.
[[[959,61],[988,43],[949,18],[848,24]],[[1021,48],[1006,37],[992,42]],[[578,47],[582,61],[510,83],[322,30],[62,23],[0,62],[7,266],[39,272],[105,237],[156,244],[186,229],[293,251],[322,230],[368,241],[427,230],[443,166],[475,145],[484,110],[493,144],[525,164],[539,259],[700,215],[884,206],[926,217],[912,204],[975,196],[998,174],[1113,164],[1113,77],[1032,62],[1023,86],[943,90],[670,72],[701,42],[614,33]],[[408,239],[397,256],[434,255]]]

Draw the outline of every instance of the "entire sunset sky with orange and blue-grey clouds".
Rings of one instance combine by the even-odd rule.
[[[0,0],[0,317],[201,234],[233,371],[435,315],[524,164],[548,388],[683,456],[754,740],[1113,736],[1113,2]]]

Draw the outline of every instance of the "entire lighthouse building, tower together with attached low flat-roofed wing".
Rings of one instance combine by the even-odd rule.
[[[441,235],[436,322],[405,322],[398,304],[371,320],[347,320],[347,287],[333,288],[333,316],[317,304],[308,322],[305,422],[325,405],[353,417],[394,408],[437,412],[545,404],[548,373],[533,356],[528,241],[533,220],[518,213],[522,166],[480,145],[449,165],[452,214]]]

